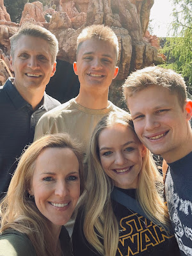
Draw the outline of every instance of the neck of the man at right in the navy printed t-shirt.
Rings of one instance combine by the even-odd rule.
[[[182,157],[187,156],[192,151],[192,130],[190,125],[188,130],[188,136],[186,136],[186,139],[183,141],[182,145],[179,145],[179,147],[173,149],[171,152],[162,154],[162,157],[166,163],[173,163],[179,159],[182,159]]]

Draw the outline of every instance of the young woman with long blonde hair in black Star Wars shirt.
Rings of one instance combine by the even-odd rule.
[[[128,114],[111,113],[93,131],[87,187],[72,238],[75,256],[180,255],[162,177]]]

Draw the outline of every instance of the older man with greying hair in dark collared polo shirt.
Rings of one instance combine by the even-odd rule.
[[[10,38],[15,78],[0,86],[0,194],[7,191],[22,150],[33,142],[35,125],[60,105],[45,93],[56,71],[58,40],[50,31],[24,24]]]

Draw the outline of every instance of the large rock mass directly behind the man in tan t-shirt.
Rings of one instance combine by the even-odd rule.
[[[154,0],[60,0],[57,10],[66,12],[72,22],[72,28],[61,31],[52,20],[49,29],[60,38],[59,58],[72,63],[76,60],[76,38],[84,26],[105,24],[118,36],[120,54],[117,79],[125,79],[129,72],[163,59],[150,42],[143,40],[147,31],[150,8]]]

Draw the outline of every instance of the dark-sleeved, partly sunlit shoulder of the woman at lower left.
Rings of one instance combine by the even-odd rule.
[[[0,236],[0,255],[35,256],[35,249],[28,236],[15,230],[7,230]]]

